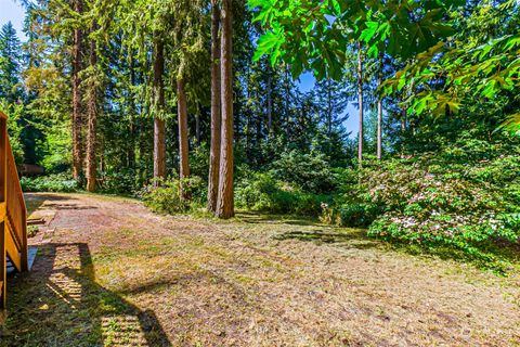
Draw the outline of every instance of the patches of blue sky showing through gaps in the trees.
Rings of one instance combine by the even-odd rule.
[[[22,8],[20,1],[14,0],[0,0],[0,25],[4,25],[10,22],[13,23],[16,33],[22,41],[25,40],[25,35],[22,31],[24,24],[24,9]],[[300,88],[303,91],[312,89],[314,86],[314,77],[312,74],[307,73],[300,77]],[[348,131],[351,131],[351,137],[354,138],[358,136],[358,110],[353,105],[347,107],[347,113],[350,117],[344,123],[344,126]]]

